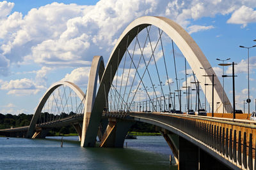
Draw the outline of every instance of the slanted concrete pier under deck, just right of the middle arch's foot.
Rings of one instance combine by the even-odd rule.
[[[103,134],[100,147],[124,147],[124,139],[134,122],[116,120],[109,118],[108,127]]]

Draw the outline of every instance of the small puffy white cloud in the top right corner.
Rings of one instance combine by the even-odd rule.
[[[256,10],[244,5],[234,11],[232,16],[227,20],[229,24],[243,24],[243,27],[246,27],[248,23],[252,22],[256,22]]]

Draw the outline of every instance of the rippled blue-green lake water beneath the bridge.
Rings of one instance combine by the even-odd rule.
[[[82,148],[76,136],[0,138],[0,169],[176,169],[161,136],[125,140],[127,148]]]

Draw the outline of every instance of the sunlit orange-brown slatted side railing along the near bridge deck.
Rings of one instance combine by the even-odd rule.
[[[211,118],[163,113],[131,113],[151,118],[184,132],[242,169],[255,168],[256,125],[248,120]]]

